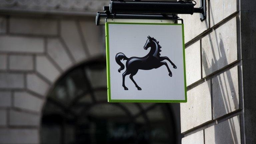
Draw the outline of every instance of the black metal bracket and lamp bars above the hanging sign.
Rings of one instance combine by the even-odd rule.
[[[174,14],[200,13],[200,19],[206,18],[206,0],[201,0],[200,8],[194,8],[193,0],[140,1],[140,0],[111,0],[109,6],[104,6],[105,13],[97,13],[96,25],[101,18],[141,18],[141,19],[177,19]]]

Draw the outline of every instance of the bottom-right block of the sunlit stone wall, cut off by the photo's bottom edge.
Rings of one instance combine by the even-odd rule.
[[[204,132],[205,144],[241,144],[239,116],[206,128]]]

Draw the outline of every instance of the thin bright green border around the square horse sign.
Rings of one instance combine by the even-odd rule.
[[[110,88],[110,60],[109,60],[109,24],[146,24],[146,25],[181,25],[182,26],[182,41],[183,41],[183,64],[184,64],[184,90],[185,100],[112,100]],[[129,22],[106,22],[106,59],[107,59],[107,89],[108,89],[108,102],[150,102],[150,103],[185,103],[187,102],[187,84],[186,84],[186,64],[185,64],[185,42],[184,42],[184,25],[172,23],[129,23]]]

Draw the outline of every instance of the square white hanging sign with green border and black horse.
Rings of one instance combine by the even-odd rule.
[[[105,26],[109,102],[187,102],[183,24]]]

